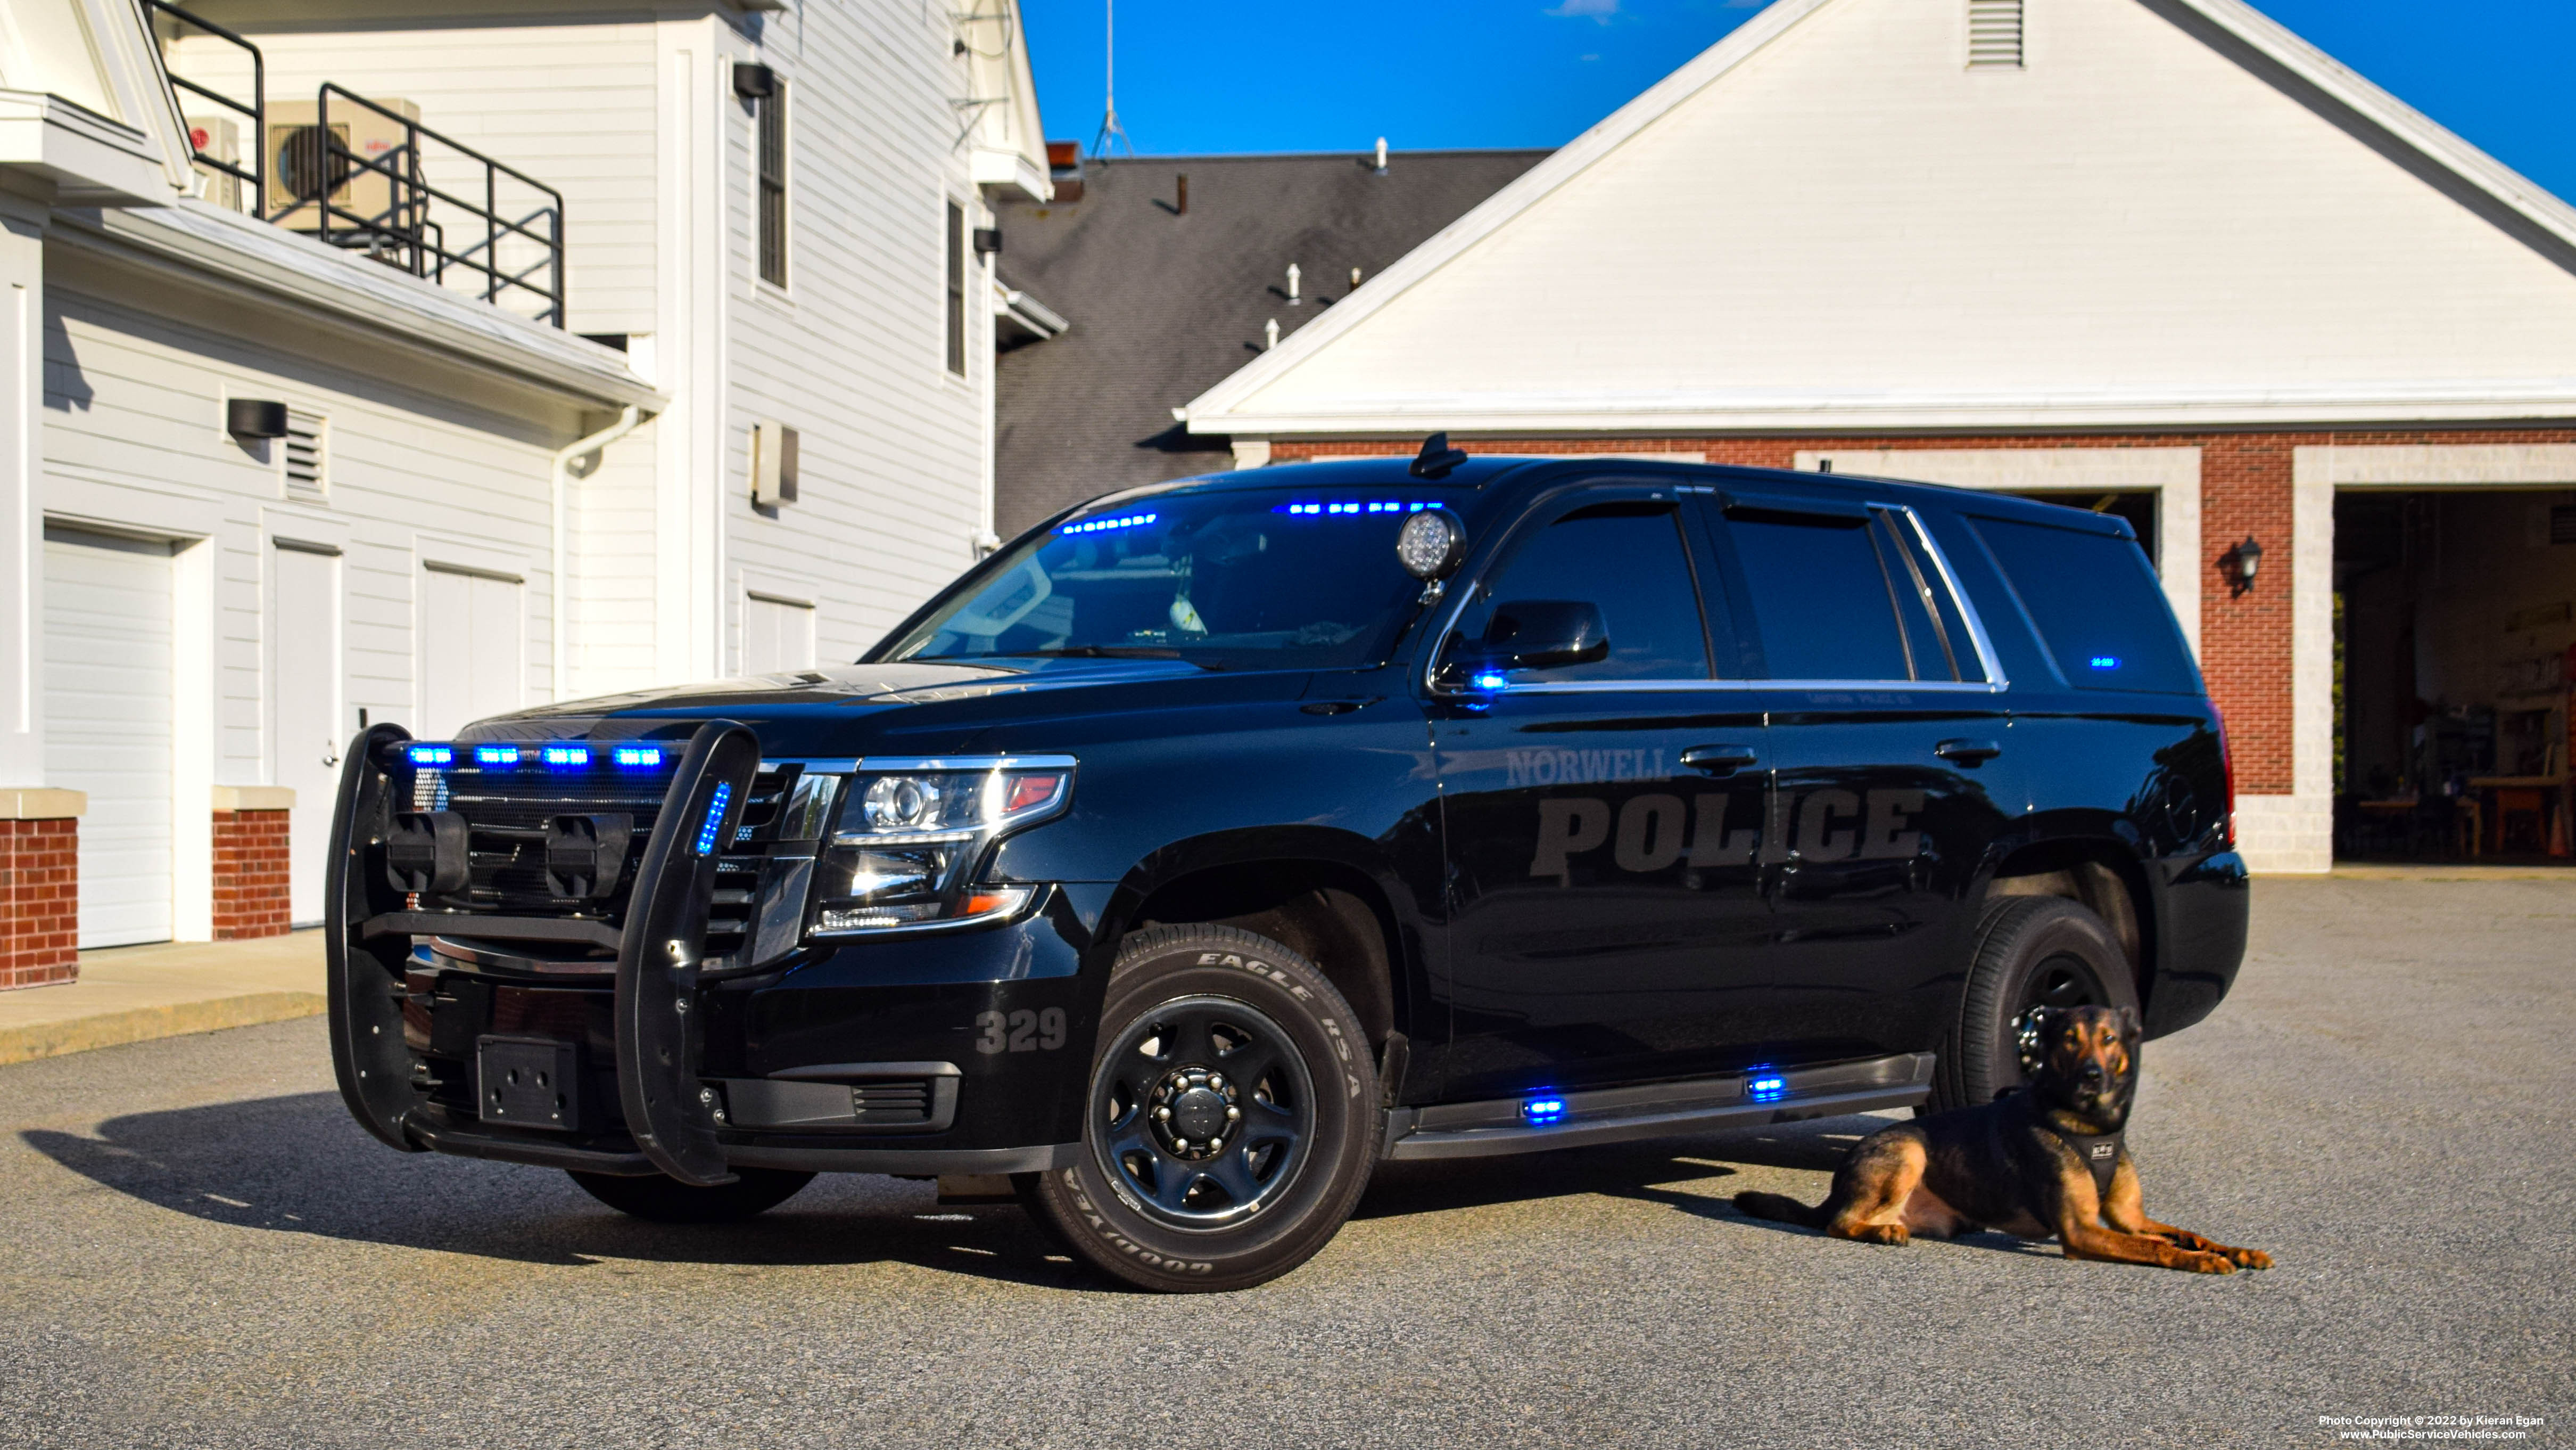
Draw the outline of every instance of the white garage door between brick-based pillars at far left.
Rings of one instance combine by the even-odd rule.
[[[170,940],[167,543],[46,525],[44,783],[90,793],[80,945]]]

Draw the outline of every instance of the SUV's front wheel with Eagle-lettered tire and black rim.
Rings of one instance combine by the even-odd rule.
[[[1275,1280],[1332,1241],[1376,1167],[1360,1017],[1267,937],[1136,932],[1110,968],[1082,1149],[1020,1177],[1074,1257],[1164,1293]]]

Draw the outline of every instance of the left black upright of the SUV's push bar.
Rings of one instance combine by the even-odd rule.
[[[412,1053],[402,1046],[402,971],[412,937],[358,940],[368,917],[402,909],[402,891],[368,871],[374,847],[392,827],[384,755],[412,739],[397,724],[368,726],[348,742],[340,793],[330,816],[330,868],[325,873],[322,950],[327,953],[330,1066],[350,1118],[379,1141],[407,1154],[422,1151],[404,1131],[412,1113]]]

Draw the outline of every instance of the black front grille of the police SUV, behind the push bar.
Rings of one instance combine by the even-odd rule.
[[[716,858],[716,896],[706,925],[706,966],[724,968],[742,950],[752,922],[760,868],[778,809],[801,767],[765,767],[752,778],[734,840]],[[464,891],[422,896],[422,909],[464,909],[507,917],[582,917],[623,925],[636,868],[662,814],[667,773],[634,775],[616,767],[477,767],[422,770],[412,778],[415,811],[456,811],[466,819],[471,881]],[[549,816],[634,816],[626,863],[613,889],[595,896],[556,896],[546,878]]]

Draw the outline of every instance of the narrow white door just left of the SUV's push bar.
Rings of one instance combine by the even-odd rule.
[[[340,749],[355,721],[340,716],[340,556],[294,543],[270,551],[268,778],[296,793],[286,816],[289,917],[322,919],[322,871],[330,865],[330,814],[340,791]]]

